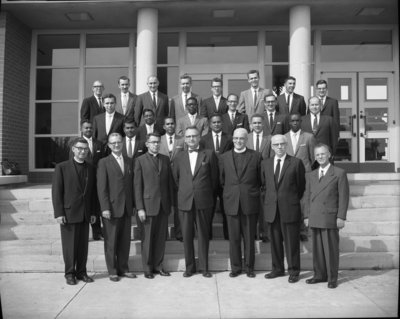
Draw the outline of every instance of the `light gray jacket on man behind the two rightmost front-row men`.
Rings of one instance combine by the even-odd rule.
[[[311,171],[311,165],[314,163],[314,146],[316,144],[314,135],[300,130],[299,140],[296,149],[293,149],[290,131],[285,134],[288,145],[286,152],[290,156],[297,157],[303,161],[306,172]],[[275,154],[275,152],[273,152]]]

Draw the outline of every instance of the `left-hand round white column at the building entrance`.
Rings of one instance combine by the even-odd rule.
[[[138,11],[136,47],[136,94],[148,90],[147,78],[157,75],[158,11],[143,8]]]

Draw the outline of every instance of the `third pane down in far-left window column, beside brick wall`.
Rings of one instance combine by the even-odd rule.
[[[36,103],[36,134],[78,134],[77,103]]]

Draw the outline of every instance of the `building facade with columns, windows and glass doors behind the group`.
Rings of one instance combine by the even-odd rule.
[[[279,94],[288,75],[307,99],[328,82],[339,100],[337,164],[349,172],[396,172],[399,147],[399,31],[396,0],[3,1],[0,13],[0,158],[33,182],[48,181],[79,135],[82,100],[101,80],[119,94],[247,89],[246,72]]]

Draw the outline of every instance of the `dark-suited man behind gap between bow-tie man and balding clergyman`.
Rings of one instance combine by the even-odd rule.
[[[220,157],[221,154],[229,151],[233,147],[232,143],[232,136],[222,132],[222,117],[220,114],[216,113],[210,117],[210,128],[211,132],[207,135],[204,135],[200,139],[200,145],[202,148],[206,150],[212,150],[217,155],[217,158]],[[222,199],[222,187],[218,187],[216,192],[214,193],[214,208],[212,211],[212,218],[211,218],[211,225],[210,225],[210,240],[213,237],[212,231],[212,220],[214,219],[215,215],[215,208],[217,206],[217,199],[219,200],[219,207],[222,214],[222,221],[223,221],[223,231],[224,231],[224,238],[228,239],[228,226],[226,224],[226,216],[224,211],[224,201]]]

